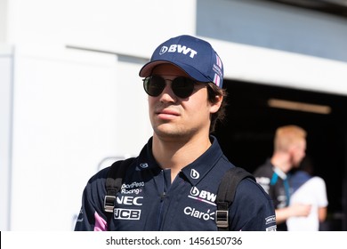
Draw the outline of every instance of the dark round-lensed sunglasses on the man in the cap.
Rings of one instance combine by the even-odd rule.
[[[143,88],[149,96],[157,97],[164,91],[165,79],[162,76],[148,76],[143,79]],[[178,76],[171,81],[171,89],[174,95],[179,98],[185,99],[190,97],[194,92],[194,84],[197,84],[194,80],[185,76]]]

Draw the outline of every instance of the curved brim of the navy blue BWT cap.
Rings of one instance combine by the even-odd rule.
[[[206,76],[203,76],[196,68],[193,68],[190,65],[186,65],[182,63],[173,63],[170,60],[149,61],[140,69],[139,76],[141,77],[151,76],[154,68],[156,68],[160,64],[165,64],[165,63],[172,64],[173,66],[181,68],[187,75],[189,75],[190,77],[192,77],[198,82],[212,82],[212,79],[208,79],[206,78]]]

